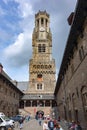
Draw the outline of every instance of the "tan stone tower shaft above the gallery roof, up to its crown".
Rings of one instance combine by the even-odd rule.
[[[55,88],[55,60],[52,58],[50,17],[46,11],[35,15],[32,35],[32,59],[29,65],[29,93],[53,93]]]

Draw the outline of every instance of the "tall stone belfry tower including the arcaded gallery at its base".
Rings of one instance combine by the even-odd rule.
[[[50,17],[46,11],[35,14],[32,34],[32,58],[29,61],[29,87],[23,100],[25,109],[34,114],[43,111],[50,114],[55,106],[55,60],[52,58],[52,34]],[[33,112],[32,112],[33,111]]]

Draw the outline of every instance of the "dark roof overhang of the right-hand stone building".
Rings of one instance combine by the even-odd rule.
[[[78,36],[82,36],[83,32],[83,24],[85,19],[87,18],[87,0],[78,0],[73,21],[71,24],[70,33],[68,36],[67,44],[65,47],[62,63],[60,66],[60,71],[55,87],[54,94],[56,95],[61,84],[64,72],[68,66],[70,57],[73,56],[74,47],[77,46],[77,38]]]

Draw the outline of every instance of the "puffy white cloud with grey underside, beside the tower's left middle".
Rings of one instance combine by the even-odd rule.
[[[31,34],[20,33],[16,41],[4,49],[3,56],[10,66],[23,66],[29,60]],[[16,61],[16,62],[15,62]]]

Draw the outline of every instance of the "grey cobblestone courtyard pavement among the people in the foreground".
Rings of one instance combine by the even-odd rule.
[[[64,121],[59,122],[63,130],[68,130],[68,127],[66,126]],[[43,121],[42,121],[43,124]],[[14,130],[20,130],[19,123],[15,124]],[[43,130],[42,125],[40,126],[38,123],[38,120],[32,119],[28,122],[24,121],[23,128],[21,130]]]

